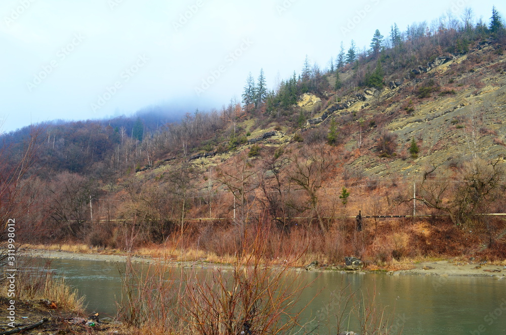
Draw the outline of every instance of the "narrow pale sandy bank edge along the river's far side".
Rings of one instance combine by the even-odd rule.
[[[67,260],[83,260],[83,261],[101,261],[111,263],[122,263],[126,261],[128,255],[108,255],[108,254],[84,254],[73,253],[63,250],[45,250],[45,249],[24,249],[23,255],[35,258],[47,259],[67,259]],[[132,255],[134,263],[158,264],[162,259],[152,257],[141,257]],[[170,261],[168,265],[175,267],[198,267],[198,268],[232,268],[232,264],[209,263],[202,261]],[[397,271],[377,271],[377,270],[356,270],[345,271],[339,267],[315,268],[311,271],[316,272],[335,272],[343,273],[385,273],[393,276],[398,275],[425,275],[425,276],[465,276],[465,277],[491,277],[495,279],[506,279],[506,267],[500,265],[488,265],[486,263],[473,262],[455,262],[453,260],[442,260],[436,262],[420,262],[413,263],[412,269]],[[306,271],[304,268],[296,267],[294,270]]]

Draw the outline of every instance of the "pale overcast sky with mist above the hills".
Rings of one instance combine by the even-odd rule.
[[[488,23],[493,1],[2,0],[3,131],[53,119],[221,108],[249,71],[267,84],[325,67],[341,41],[368,46],[465,7]],[[504,16],[506,6],[495,3]]]

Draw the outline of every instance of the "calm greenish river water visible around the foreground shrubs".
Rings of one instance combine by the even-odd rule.
[[[51,260],[51,268],[86,296],[88,310],[102,316],[114,316],[117,311],[122,267],[122,263]],[[367,305],[367,297],[375,292],[376,302],[385,308],[393,328],[402,330],[402,334],[506,335],[506,279],[360,272],[304,272],[301,275],[311,283],[303,291],[300,304],[307,305],[313,300],[305,309],[303,319],[309,322],[306,330],[316,328],[314,334],[336,333],[338,297],[344,290],[365,297],[360,299],[362,305],[364,302]],[[358,315],[364,311],[360,307],[350,313]],[[349,328],[341,330],[358,332],[356,319],[350,317]]]

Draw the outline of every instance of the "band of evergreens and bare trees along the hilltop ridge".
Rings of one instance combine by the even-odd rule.
[[[405,31],[394,23],[388,36],[375,29],[367,50],[360,51],[354,40],[346,49],[341,41],[338,55],[335,59],[330,58],[324,70],[317,63],[312,64],[306,55],[301,73],[294,72],[291,78],[280,83],[276,91],[267,92],[263,70],[257,82],[249,73],[242,102],[247,110],[250,107],[258,109],[265,103],[268,113],[281,109],[281,114],[285,115],[303,93],[323,95],[331,90],[359,87],[381,89],[388,76],[398,70],[431,61],[434,54],[466,53],[473,43],[488,37],[499,41],[506,37],[504,21],[495,7],[489,24],[481,19],[474,21],[469,8],[459,18],[448,12],[431,24],[413,23]],[[343,80],[340,73],[345,67],[353,69],[353,75]],[[280,112],[276,114],[279,116]]]

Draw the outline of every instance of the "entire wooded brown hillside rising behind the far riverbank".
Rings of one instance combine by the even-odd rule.
[[[209,260],[254,243],[249,231],[272,258],[307,250],[301,262],[504,260],[506,222],[482,215],[506,205],[504,35],[408,37],[303,70],[259,103],[7,134],[3,216],[31,243],[183,246]],[[413,187],[416,219],[404,217]]]

